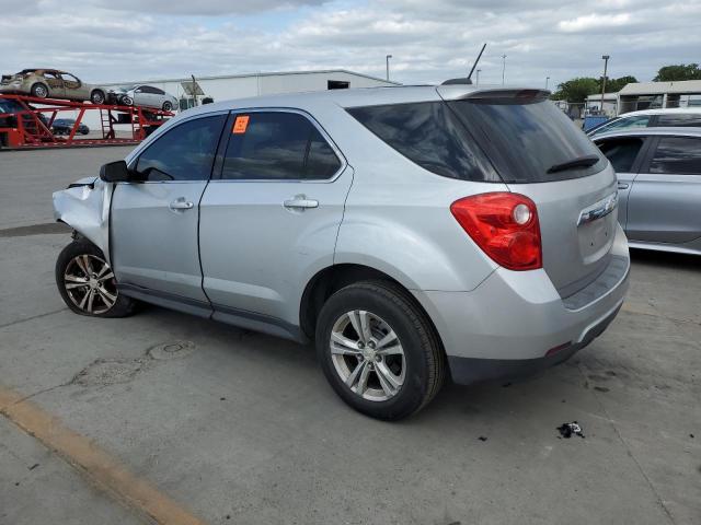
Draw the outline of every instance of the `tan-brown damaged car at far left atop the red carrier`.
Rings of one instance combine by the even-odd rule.
[[[0,93],[30,95],[36,98],[61,98],[67,101],[104,104],[107,91],[88,84],[72,73],[58,69],[23,69],[14,74],[3,74]]]

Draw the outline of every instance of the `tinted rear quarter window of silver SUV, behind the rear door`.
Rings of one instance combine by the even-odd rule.
[[[354,107],[348,113],[429,172],[464,180],[501,182],[464,126],[443,102]]]

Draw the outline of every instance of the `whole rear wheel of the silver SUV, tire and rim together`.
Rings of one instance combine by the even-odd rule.
[[[364,315],[371,337],[355,329]],[[430,322],[409,292],[389,281],[361,281],[335,292],[321,308],[315,336],[329,383],[366,416],[388,421],[411,416],[445,383],[446,358]]]

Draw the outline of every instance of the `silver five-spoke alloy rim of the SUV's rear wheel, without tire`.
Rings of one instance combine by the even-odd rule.
[[[354,310],[338,317],[330,351],[341,380],[364,399],[387,401],[404,384],[404,349],[392,327],[371,312]]]

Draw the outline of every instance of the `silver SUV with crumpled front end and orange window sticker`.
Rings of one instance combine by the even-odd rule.
[[[185,112],[54,194],[76,313],[135,301],[315,341],[336,393],[400,419],[446,377],[570,358],[630,259],[613,170],[539,90],[344,90]]]

